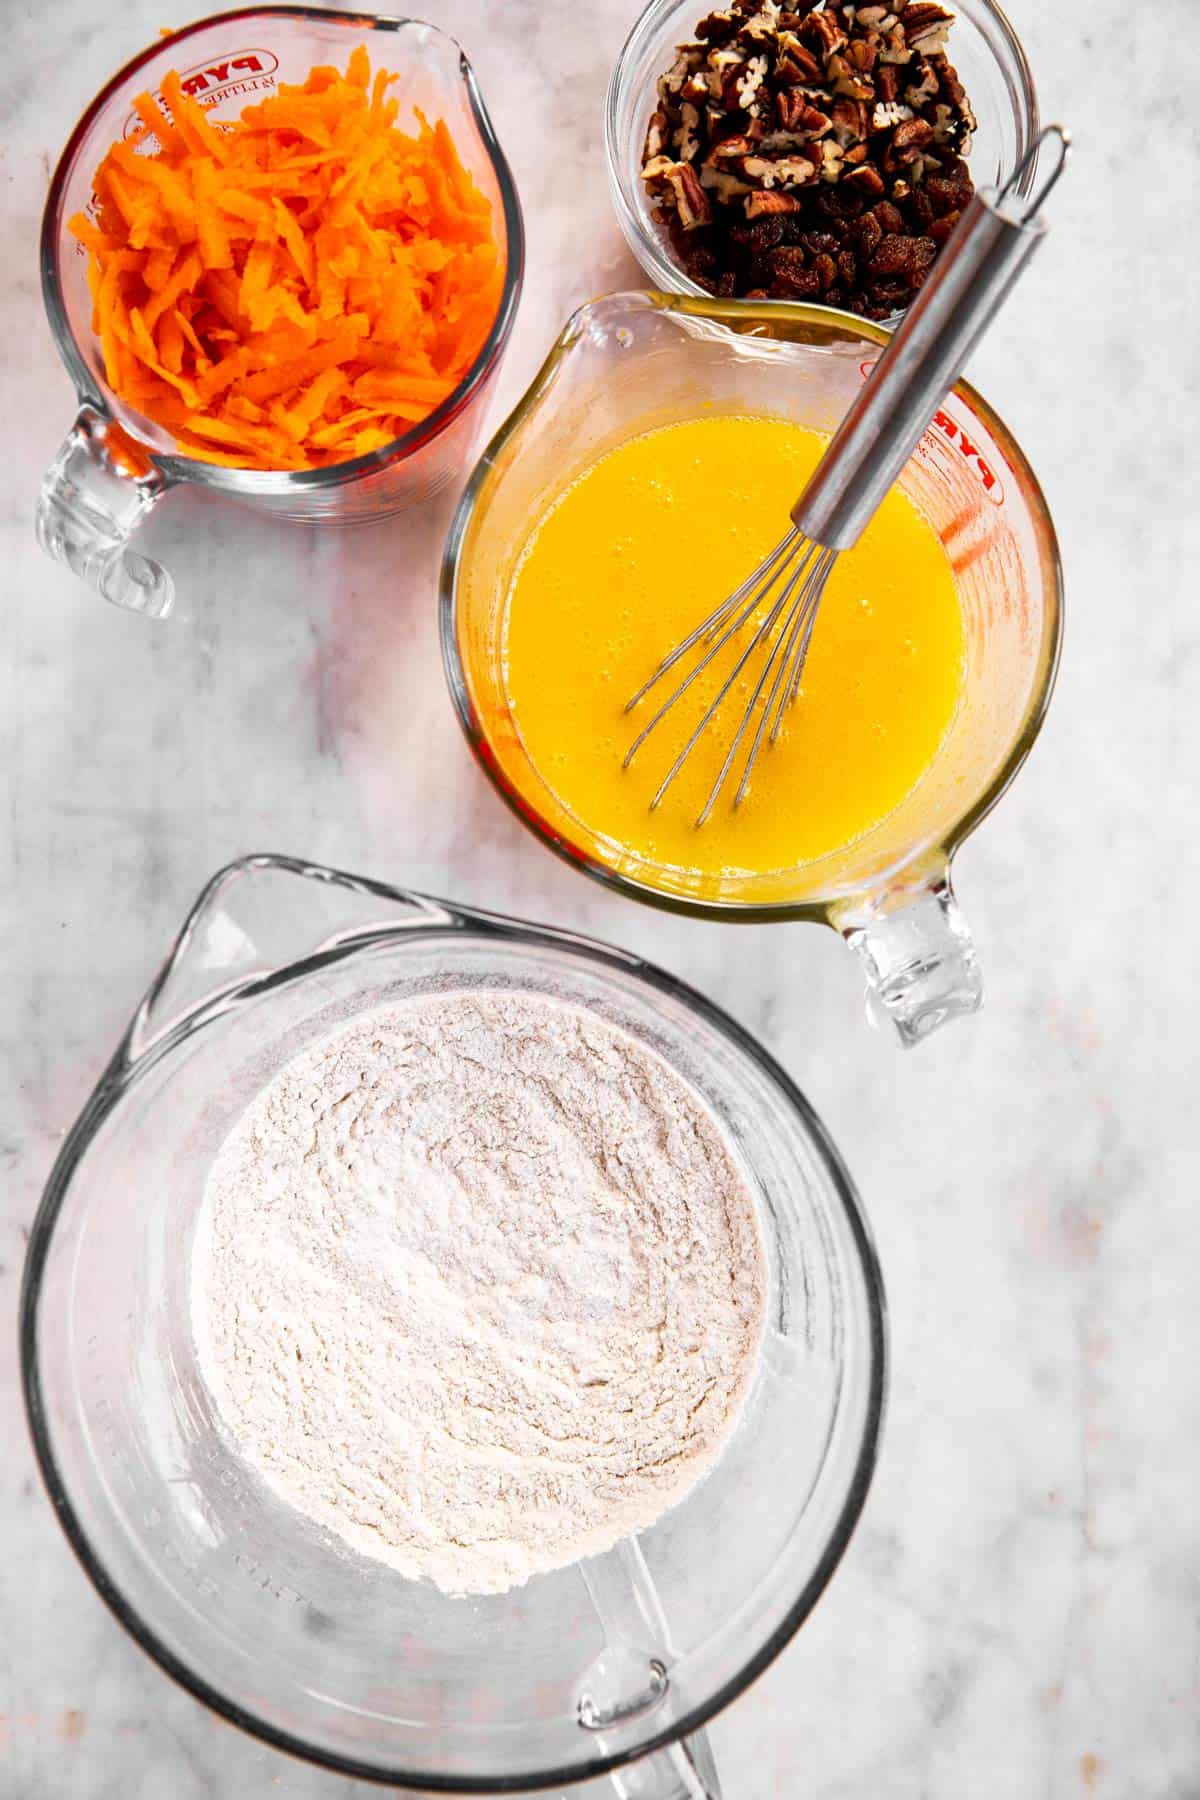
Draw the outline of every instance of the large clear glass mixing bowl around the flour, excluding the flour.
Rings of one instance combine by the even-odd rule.
[[[196,1370],[189,1253],[212,1156],[284,1060],[358,1012],[479,985],[597,1010],[698,1089],[759,1202],[770,1303],[747,1411],[682,1505],[603,1557],[448,1598],[338,1546],[230,1453]],[[201,895],[63,1145],[22,1359],[74,1550],[223,1717],[421,1791],[615,1769],[626,1800],[703,1800],[718,1782],[700,1728],[804,1622],[862,1508],[885,1316],[824,1129],[698,994],[567,932],[254,857]]]

